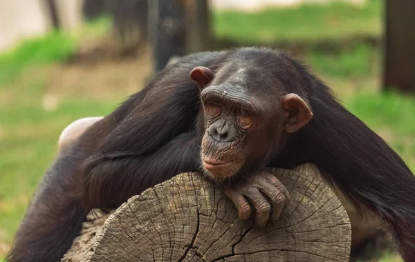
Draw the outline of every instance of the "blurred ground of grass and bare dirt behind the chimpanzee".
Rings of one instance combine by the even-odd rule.
[[[362,8],[336,3],[238,16],[214,13],[214,31],[217,37],[246,43],[292,41],[288,46],[298,51],[296,57],[304,59],[347,108],[415,170],[415,99],[379,91],[378,42],[347,41],[356,35],[380,39],[380,2],[369,1]],[[114,55],[96,63],[93,57],[84,59],[84,54],[70,59],[75,51],[107,43],[109,38],[102,37],[106,26],[100,22],[74,37],[50,34],[0,54],[0,261],[53,161],[60,132],[76,119],[108,114],[151,76],[147,49],[132,59]],[[339,43],[342,38],[346,40]],[[298,48],[320,39],[324,39],[320,45]],[[399,260],[387,256],[383,261]]]

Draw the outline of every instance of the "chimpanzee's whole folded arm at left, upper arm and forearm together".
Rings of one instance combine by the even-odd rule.
[[[156,81],[139,103],[132,97],[107,116],[122,120],[84,163],[86,208],[118,206],[179,172],[197,170],[201,142],[192,125],[199,90],[177,81]]]

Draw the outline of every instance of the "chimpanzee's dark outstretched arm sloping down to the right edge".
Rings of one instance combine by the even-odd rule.
[[[329,94],[311,99],[314,119],[295,139],[299,159],[317,164],[326,181],[357,207],[388,221],[405,261],[415,257],[415,177],[403,159]]]

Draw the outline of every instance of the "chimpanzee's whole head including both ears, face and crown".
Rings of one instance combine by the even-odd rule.
[[[205,113],[203,166],[214,179],[264,165],[288,133],[313,117],[304,99],[288,91],[301,79],[291,61],[268,52],[242,50],[216,72],[199,66],[190,73]]]

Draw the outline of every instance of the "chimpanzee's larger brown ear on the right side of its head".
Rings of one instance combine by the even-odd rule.
[[[286,115],[284,128],[288,133],[299,130],[313,118],[310,108],[297,94],[284,95],[282,97],[282,108]]]

